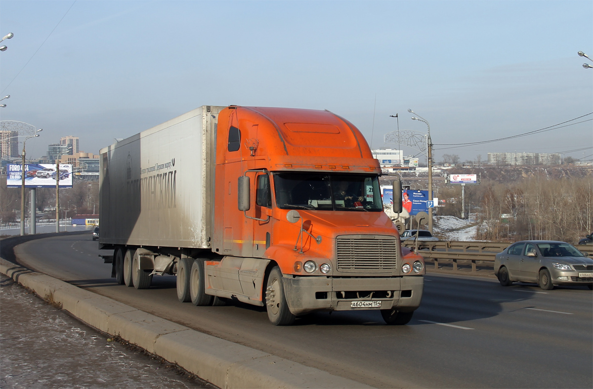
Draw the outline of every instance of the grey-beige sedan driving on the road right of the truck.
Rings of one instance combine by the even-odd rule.
[[[494,272],[502,286],[522,281],[537,283],[544,290],[556,285],[593,289],[593,258],[566,242],[516,242],[496,254]]]

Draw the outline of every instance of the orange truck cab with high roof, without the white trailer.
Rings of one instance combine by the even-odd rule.
[[[417,255],[402,267],[380,173],[359,130],[331,112],[222,111],[212,250],[224,257],[206,262],[206,293],[228,297],[225,278],[236,270],[235,297],[289,312],[282,319],[269,309],[275,324],[315,310],[361,308],[409,320],[425,267]]]

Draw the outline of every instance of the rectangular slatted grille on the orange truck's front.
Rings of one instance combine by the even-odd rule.
[[[397,268],[397,243],[393,236],[338,236],[336,247],[338,270]]]

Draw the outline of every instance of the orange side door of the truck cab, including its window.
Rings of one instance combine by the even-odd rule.
[[[253,223],[253,256],[262,258],[272,242],[272,190],[269,174],[258,172],[255,184],[254,217],[261,220],[254,220]]]

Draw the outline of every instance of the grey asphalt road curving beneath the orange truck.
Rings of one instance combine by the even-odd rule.
[[[180,303],[175,277],[149,290],[110,278],[91,235],[15,248],[20,263],[165,319],[375,387],[591,388],[593,292],[426,275],[422,306],[407,326],[377,311],[315,313],[276,327],[259,307]]]

